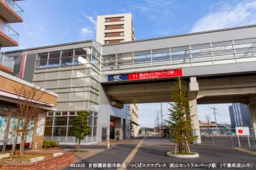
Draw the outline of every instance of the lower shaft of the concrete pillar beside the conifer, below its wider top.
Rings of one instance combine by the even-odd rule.
[[[190,115],[192,116],[193,126],[193,136],[198,136],[198,139],[195,140],[194,143],[201,143],[201,136],[200,136],[200,127],[198,121],[198,102],[196,99],[189,100],[189,107],[190,107]]]

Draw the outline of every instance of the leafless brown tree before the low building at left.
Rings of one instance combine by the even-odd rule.
[[[15,86],[13,87],[14,92],[17,95],[18,102],[16,107],[12,110],[16,110],[13,113],[13,117],[18,119],[18,126],[16,127],[16,134],[13,139],[13,149],[10,157],[13,157],[13,152],[16,148],[17,135],[21,136],[19,145],[19,157],[22,157],[24,146],[25,146],[25,135],[28,128],[35,125],[40,117],[45,117],[46,111],[41,109],[40,105],[42,101],[40,99],[46,93],[42,88],[38,86]]]

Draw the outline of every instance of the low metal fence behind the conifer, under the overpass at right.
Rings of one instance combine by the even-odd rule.
[[[201,144],[224,147],[256,147],[255,130],[249,129],[249,135],[237,135],[235,129],[201,129]],[[197,144],[196,142],[194,142]]]

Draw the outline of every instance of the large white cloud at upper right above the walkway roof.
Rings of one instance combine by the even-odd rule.
[[[230,1],[232,2],[232,1]],[[191,32],[231,28],[256,23],[256,1],[242,1],[238,4],[222,3],[218,10],[208,13],[199,19]]]

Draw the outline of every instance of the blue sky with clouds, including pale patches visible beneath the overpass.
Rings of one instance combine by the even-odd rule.
[[[132,13],[135,40],[256,24],[256,0],[25,0],[17,4],[25,11],[24,22],[11,24],[20,35],[19,46],[2,51],[95,40],[97,16],[116,13]],[[216,107],[217,122],[230,122],[228,105],[198,105],[199,119],[204,122],[209,113],[214,121],[211,108]],[[168,107],[162,104],[163,115]],[[141,126],[153,127],[160,104],[138,108]]]

